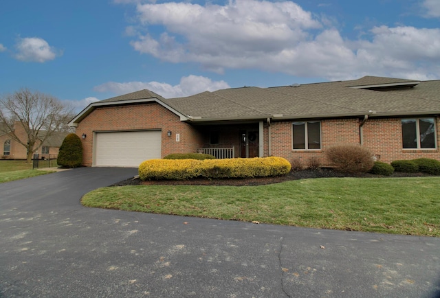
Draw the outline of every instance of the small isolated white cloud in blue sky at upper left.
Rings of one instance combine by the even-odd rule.
[[[51,47],[47,41],[38,37],[19,38],[15,58],[21,61],[46,62],[61,56],[61,51]]]

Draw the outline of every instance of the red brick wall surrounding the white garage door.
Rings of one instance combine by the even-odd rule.
[[[170,153],[196,152],[201,147],[201,135],[179,116],[157,103],[98,107],[83,119],[76,134],[83,140],[83,165],[93,162],[94,132],[115,130],[162,130],[162,157]],[[171,130],[172,136],[166,133]],[[176,134],[180,141],[176,141]]]

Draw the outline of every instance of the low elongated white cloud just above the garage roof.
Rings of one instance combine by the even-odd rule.
[[[203,91],[216,91],[219,89],[230,88],[228,83],[212,81],[203,76],[187,76],[180,80],[180,83],[172,86],[160,82],[107,82],[94,88],[98,92],[112,92],[116,95],[139,91],[142,89],[151,90],[164,98],[180,98],[188,95],[201,93]]]

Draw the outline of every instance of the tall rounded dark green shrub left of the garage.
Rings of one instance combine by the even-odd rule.
[[[69,133],[58,151],[58,165],[65,168],[78,168],[83,163],[83,144],[80,137]]]

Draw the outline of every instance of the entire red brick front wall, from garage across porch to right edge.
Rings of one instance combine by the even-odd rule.
[[[318,158],[321,165],[329,165],[325,149],[336,144],[360,144],[360,123],[362,119],[325,119],[321,121],[321,150],[292,150],[292,121],[272,122],[270,140],[268,126],[264,124],[264,156],[285,157],[289,161],[299,159],[307,165],[311,157]],[[440,119],[437,117],[437,143],[439,143]],[[170,153],[197,152],[203,147],[235,147],[240,155],[240,130],[258,130],[258,124],[225,126],[191,126],[181,122],[179,117],[157,103],[108,106],[96,108],[78,124],[76,133],[87,134],[83,140],[84,165],[92,165],[92,144],[94,132],[112,130],[162,130],[162,157]],[[171,130],[172,137],[166,132]],[[209,144],[209,132],[219,131],[219,144]],[[176,133],[180,141],[175,141]],[[439,150],[403,150],[401,148],[401,119],[368,119],[362,127],[364,146],[370,148],[381,161],[387,163],[397,159],[428,157],[440,160]],[[270,146],[269,146],[270,143]],[[437,148],[440,144],[437,145]],[[270,151],[269,151],[270,150]]]

